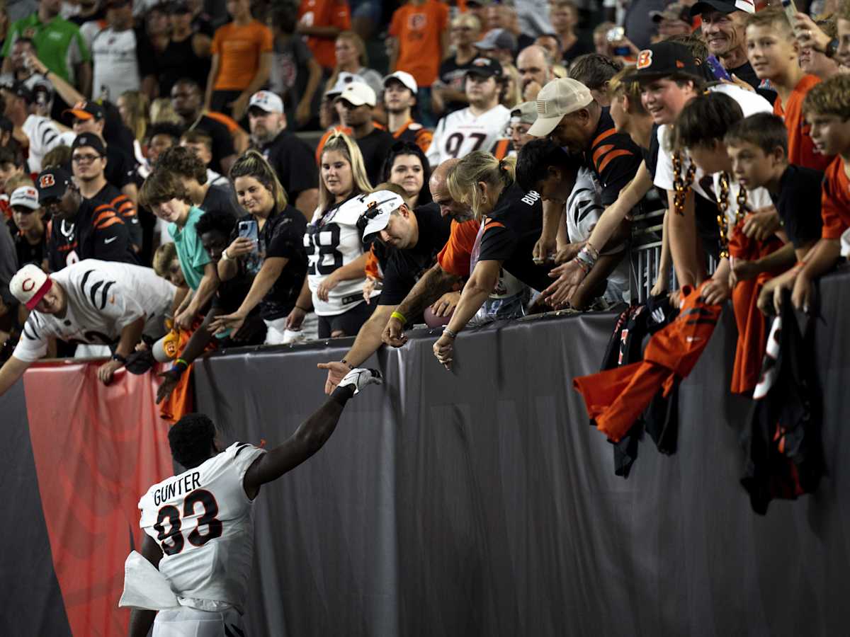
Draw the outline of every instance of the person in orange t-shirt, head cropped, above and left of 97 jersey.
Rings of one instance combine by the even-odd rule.
[[[449,50],[448,26],[449,7],[437,0],[410,0],[396,9],[389,26],[389,69],[404,70],[416,80],[417,103],[426,127],[436,123],[431,121],[431,85]]]

